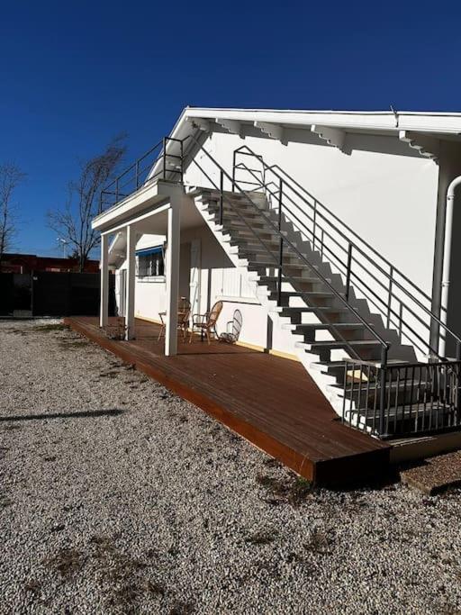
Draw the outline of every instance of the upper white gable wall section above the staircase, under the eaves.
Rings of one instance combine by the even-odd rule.
[[[348,135],[346,154],[309,131],[286,131],[278,140],[213,132],[205,141],[225,169],[232,152],[248,145],[268,164],[278,164],[321,203],[348,223],[385,258],[427,293],[432,282],[438,166],[392,137]],[[301,141],[305,142],[301,142]],[[197,160],[216,180],[216,168],[200,152]],[[193,164],[185,181],[207,185]]]

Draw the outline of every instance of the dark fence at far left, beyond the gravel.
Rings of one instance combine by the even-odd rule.
[[[100,276],[38,271],[0,274],[0,316],[97,316]],[[109,315],[115,313],[115,276],[109,276]]]

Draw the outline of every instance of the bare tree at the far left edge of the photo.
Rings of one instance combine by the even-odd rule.
[[[0,264],[5,252],[12,248],[17,232],[19,219],[13,194],[25,176],[13,162],[0,165]]]

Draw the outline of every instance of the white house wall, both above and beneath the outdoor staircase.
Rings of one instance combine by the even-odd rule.
[[[260,136],[248,136],[242,140],[227,132],[214,132],[204,147],[229,174],[232,152],[243,144],[263,155],[268,164],[280,165],[384,258],[409,276],[423,292],[430,294],[438,194],[437,165],[421,158],[406,143],[390,137],[348,135],[348,153],[330,147],[308,131],[287,131],[287,137],[288,144],[283,145]],[[203,152],[198,154],[197,161],[218,185],[216,167]],[[209,185],[194,164],[185,172],[185,183]],[[163,240],[144,235],[137,248],[158,245]],[[219,332],[225,330],[226,323],[239,309],[243,321],[241,341],[293,353],[289,336],[280,330],[271,330],[270,317],[255,298],[255,285],[248,282],[244,271],[231,266],[229,258],[205,225],[181,233],[181,294],[186,293],[189,281],[190,247],[194,240],[199,240],[201,250],[199,312],[206,312],[212,303],[223,300]],[[137,278],[137,316],[158,320],[158,312],[165,310],[165,304],[164,280]]]

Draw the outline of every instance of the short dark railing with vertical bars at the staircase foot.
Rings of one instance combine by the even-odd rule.
[[[461,362],[376,366],[346,359],[342,421],[379,438],[461,424]]]

